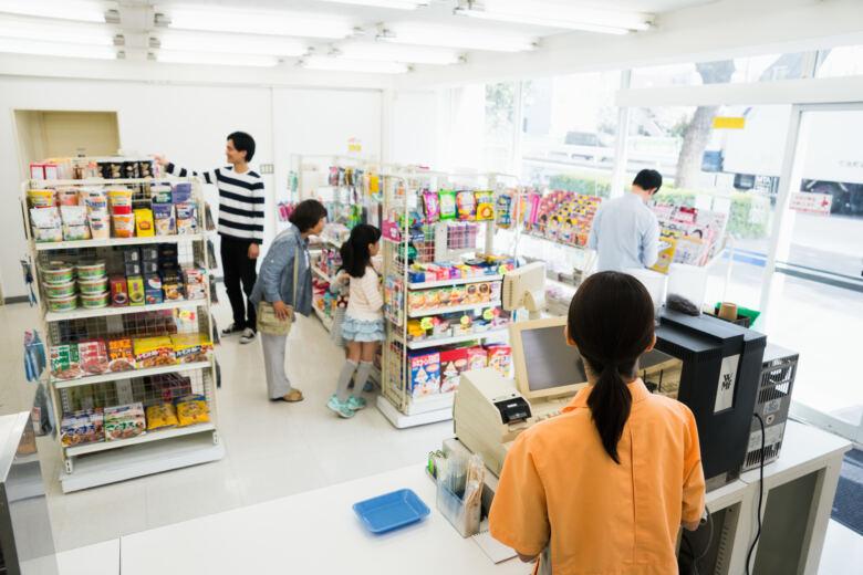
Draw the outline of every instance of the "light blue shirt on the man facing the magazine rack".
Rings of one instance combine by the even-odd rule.
[[[603,201],[593,218],[588,248],[599,252],[600,272],[651,268],[659,254],[656,215],[632,191]]]

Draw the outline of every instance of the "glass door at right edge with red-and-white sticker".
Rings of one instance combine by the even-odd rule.
[[[796,133],[796,138],[793,138]],[[769,341],[799,352],[792,415],[863,442],[863,103],[796,106],[789,130]]]

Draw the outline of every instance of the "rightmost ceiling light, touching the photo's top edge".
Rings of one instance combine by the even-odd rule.
[[[627,34],[651,28],[652,15],[578,8],[562,2],[523,0],[459,0],[457,15],[516,22],[566,30],[582,30],[605,34]]]

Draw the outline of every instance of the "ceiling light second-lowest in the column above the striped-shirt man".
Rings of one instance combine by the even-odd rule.
[[[178,52],[301,56],[309,51],[306,43],[284,36],[168,30],[162,32],[158,39],[160,49]]]

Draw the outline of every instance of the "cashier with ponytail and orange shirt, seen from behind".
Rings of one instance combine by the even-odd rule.
[[[631,275],[594,274],[570,304],[565,334],[590,385],[512,445],[491,535],[522,561],[538,558],[534,573],[677,573],[678,527],[698,526],[705,483],[692,411],[636,376],[656,342],[651,295]]]

